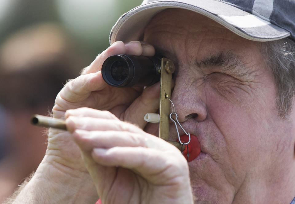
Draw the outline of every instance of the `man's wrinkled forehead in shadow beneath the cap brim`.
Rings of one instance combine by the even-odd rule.
[[[258,43],[238,36],[204,15],[174,8],[159,12],[151,19],[144,30],[144,40],[163,49],[169,49],[165,45],[167,43],[177,44],[178,49],[189,52],[198,46],[211,52],[221,49],[246,50],[246,47]]]

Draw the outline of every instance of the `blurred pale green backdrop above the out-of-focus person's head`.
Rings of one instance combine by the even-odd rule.
[[[108,47],[117,19],[142,0],[0,0],[0,44],[27,26],[56,22],[66,29],[88,56]]]

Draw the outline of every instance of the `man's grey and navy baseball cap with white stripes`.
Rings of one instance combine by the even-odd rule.
[[[168,8],[203,14],[249,40],[295,39],[295,0],[144,0],[119,18],[110,44],[140,40],[152,17]]]

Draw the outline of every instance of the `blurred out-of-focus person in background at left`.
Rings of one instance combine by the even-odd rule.
[[[81,69],[68,38],[59,25],[44,23],[14,33],[0,47],[0,202],[44,157],[45,129],[30,125],[30,117],[47,115],[63,84]]]

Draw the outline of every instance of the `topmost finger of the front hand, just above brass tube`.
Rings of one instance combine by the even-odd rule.
[[[112,120],[119,120],[114,114],[110,113],[106,110],[96,110],[92,108],[77,108],[72,110],[67,110],[65,112],[65,119],[69,116],[76,116],[76,117],[103,117],[105,119],[112,119]]]

